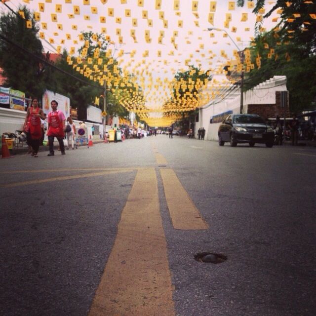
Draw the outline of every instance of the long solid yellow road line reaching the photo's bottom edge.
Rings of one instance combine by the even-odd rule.
[[[150,188],[150,190],[148,190]],[[174,316],[155,169],[138,170],[89,316]]]

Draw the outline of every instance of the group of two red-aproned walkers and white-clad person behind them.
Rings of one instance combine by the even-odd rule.
[[[74,149],[74,140],[76,135],[76,126],[71,117],[66,118],[62,111],[57,109],[58,102],[56,100],[50,103],[52,111],[47,115],[47,136],[49,144],[49,154],[47,156],[54,156],[54,138],[58,140],[59,148],[62,155],[65,155],[64,137],[67,136],[67,149],[71,144]],[[27,136],[27,143],[30,147],[29,153],[33,157],[38,157],[40,144],[42,142],[45,130],[43,128],[42,120],[46,119],[46,114],[39,107],[39,100],[34,98],[32,105],[27,109],[26,118],[23,125],[23,130]]]

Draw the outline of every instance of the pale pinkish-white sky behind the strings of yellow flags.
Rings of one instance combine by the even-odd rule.
[[[267,12],[275,1],[266,2]],[[40,32],[44,34],[42,43],[46,51],[55,53],[56,49],[63,48],[70,51],[73,47],[76,56],[83,44],[79,41],[80,32],[103,32],[109,36],[112,41],[109,48],[114,57],[120,62],[120,67],[135,74],[143,84],[146,105],[150,108],[161,106],[169,97],[169,92],[163,90],[168,90],[166,84],[177,71],[187,70],[187,65],[194,65],[204,72],[210,70],[212,74],[219,75],[222,63],[233,57],[236,45],[240,50],[249,45],[254,37],[256,16],[247,3],[246,0],[244,7],[239,8],[236,1],[227,0],[6,2],[15,11],[19,5],[25,4],[31,11],[40,13]],[[74,14],[78,12],[76,9],[79,9],[79,14]],[[0,10],[6,10],[3,4],[0,4]],[[246,21],[241,21],[245,13]],[[277,17],[274,12],[264,20],[263,27],[272,29],[276,25],[272,19]],[[47,24],[47,29],[42,29],[42,23]],[[207,31],[208,28],[225,30],[232,40],[225,31]],[[134,32],[134,37],[131,32]],[[47,43],[49,41],[51,45]]]

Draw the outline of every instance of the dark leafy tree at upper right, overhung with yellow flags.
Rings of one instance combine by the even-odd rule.
[[[243,2],[238,1],[238,5]],[[253,12],[259,13],[264,3],[258,0]],[[316,101],[316,4],[278,0],[264,18],[276,9],[280,9],[281,21],[273,30],[258,33],[250,48],[252,62],[258,57],[260,61],[259,67],[247,74],[245,86],[249,89],[274,75],[284,75],[290,110],[311,109]]]

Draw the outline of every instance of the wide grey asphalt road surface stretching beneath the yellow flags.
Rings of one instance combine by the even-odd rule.
[[[161,285],[170,288],[168,314],[159,313],[164,304],[147,303],[144,296],[140,308],[156,304],[157,309],[139,314],[133,310],[138,303],[124,298],[124,305],[118,297],[109,303],[113,313],[103,315],[316,314],[315,148],[231,148],[158,135],[96,144],[65,156],[46,154],[0,160],[0,315],[102,315],[99,305],[99,314],[91,306],[102,291],[107,297],[117,290],[100,284],[123,277],[118,288],[125,293],[138,264],[148,259],[147,265],[156,266],[159,258],[163,263],[163,251],[162,281],[170,276],[171,282]],[[174,171],[206,229],[174,228],[160,169]],[[152,182],[145,181],[144,170],[155,171]],[[138,217],[126,213],[128,201],[136,203]],[[161,219],[159,212],[147,214],[157,205]],[[126,242],[133,241],[128,232],[143,218],[150,231],[140,228],[131,247],[155,234],[159,242],[141,244],[142,254],[136,255]],[[150,226],[158,230],[159,221],[163,230],[151,234]],[[227,260],[195,260],[204,251]],[[115,264],[115,254],[121,264]],[[146,275],[152,267],[141,269]],[[138,285],[133,286],[137,297]]]

